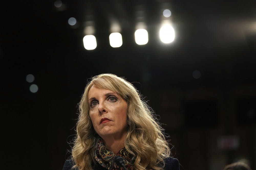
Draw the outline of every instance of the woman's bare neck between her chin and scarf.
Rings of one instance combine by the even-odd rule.
[[[102,139],[106,148],[117,154],[122,148],[124,148],[125,136],[126,134],[123,134],[120,137],[103,136]]]

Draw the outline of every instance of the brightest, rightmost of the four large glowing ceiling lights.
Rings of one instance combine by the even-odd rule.
[[[160,29],[160,40],[163,43],[171,43],[175,38],[174,29],[171,25],[165,24]]]

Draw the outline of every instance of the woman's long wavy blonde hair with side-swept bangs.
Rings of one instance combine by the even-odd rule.
[[[134,86],[114,74],[94,76],[84,90],[79,103],[76,138],[72,149],[73,168],[93,169],[97,134],[89,116],[88,92],[92,85],[118,93],[127,102],[127,135],[124,146],[135,155],[134,169],[163,169],[170,149],[163,129],[156,122],[153,111],[143,101]]]

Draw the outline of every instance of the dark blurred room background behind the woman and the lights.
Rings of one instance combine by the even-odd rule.
[[[241,159],[256,168],[255,1],[79,0],[62,1],[61,9],[54,2],[1,5],[2,148],[9,169],[62,168],[71,155],[77,103],[89,78],[101,73],[133,82],[185,169],[223,169]],[[142,46],[134,41],[138,7],[149,36]],[[158,38],[165,8],[176,35],[170,44]],[[77,19],[73,27],[70,17]],[[110,18],[122,28],[119,48],[109,45]],[[82,41],[88,20],[97,38],[90,51]],[[35,81],[26,82],[27,74]],[[219,148],[218,139],[230,135],[238,147]]]

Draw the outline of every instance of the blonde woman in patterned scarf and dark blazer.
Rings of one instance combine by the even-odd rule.
[[[79,107],[72,159],[63,170],[179,169],[162,128],[131,83],[113,74],[95,76]],[[117,156],[125,167],[115,162]]]

